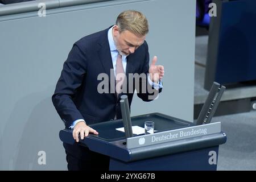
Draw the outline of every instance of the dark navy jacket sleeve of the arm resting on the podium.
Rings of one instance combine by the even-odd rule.
[[[86,75],[86,56],[81,49],[74,44],[69,52],[68,59],[63,65],[63,70],[56,84],[52,102],[65,123],[66,128],[71,126],[76,119],[84,119],[74,104],[72,98],[77,88],[81,86]]]

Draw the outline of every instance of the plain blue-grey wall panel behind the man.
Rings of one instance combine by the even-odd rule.
[[[163,93],[134,97],[131,115],[159,112],[193,121],[196,1],[111,1],[0,17],[0,169],[67,169],[51,96],[74,42],[115,23],[121,11],[142,11],[150,23],[150,59],[164,65]],[[46,152],[46,165],[38,152]]]

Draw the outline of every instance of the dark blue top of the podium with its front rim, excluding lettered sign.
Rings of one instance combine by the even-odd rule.
[[[140,126],[144,128],[145,121],[155,122],[155,130],[157,131],[155,134],[150,135],[162,135],[162,133],[168,133],[169,131],[172,132],[182,129],[186,130],[186,128],[191,129],[191,127],[200,127],[195,126],[194,123],[160,113],[151,113],[131,117],[132,126]],[[90,127],[97,130],[99,134],[89,134],[88,137],[85,137],[84,140],[80,139],[79,144],[88,147],[94,152],[108,155],[112,158],[125,162],[154,158],[156,156],[170,155],[189,150],[198,150],[200,148],[218,146],[219,144],[226,142],[225,133],[222,133],[219,130],[217,133],[209,135],[207,134],[200,137],[179,139],[148,146],[145,145],[141,147],[127,148],[125,133],[116,130],[119,127],[123,127],[122,119],[101,122],[90,125]],[[61,141],[69,144],[75,144],[71,129],[61,130],[59,135]],[[146,136],[141,135],[134,135],[134,137],[128,139],[146,138]]]

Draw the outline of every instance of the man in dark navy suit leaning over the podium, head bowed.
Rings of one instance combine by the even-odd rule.
[[[146,17],[128,10],[119,14],[114,26],[85,36],[73,45],[52,102],[65,127],[73,129],[76,142],[79,134],[81,139],[89,133],[98,134],[89,125],[122,118],[119,104],[122,94],[127,94],[130,106],[135,88],[143,101],[154,100],[162,91],[164,67],[155,65],[156,56],[149,67],[148,46],[144,41],[147,33]],[[104,80],[104,92],[99,86],[102,73],[110,78]],[[134,73],[144,77],[128,79]],[[69,170],[108,170],[107,156],[79,144],[64,143],[64,148]]]

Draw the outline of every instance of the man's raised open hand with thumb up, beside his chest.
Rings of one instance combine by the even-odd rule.
[[[148,72],[150,73],[151,81],[158,83],[164,76],[164,67],[162,65],[155,65],[156,60],[158,58],[154,56]]]

